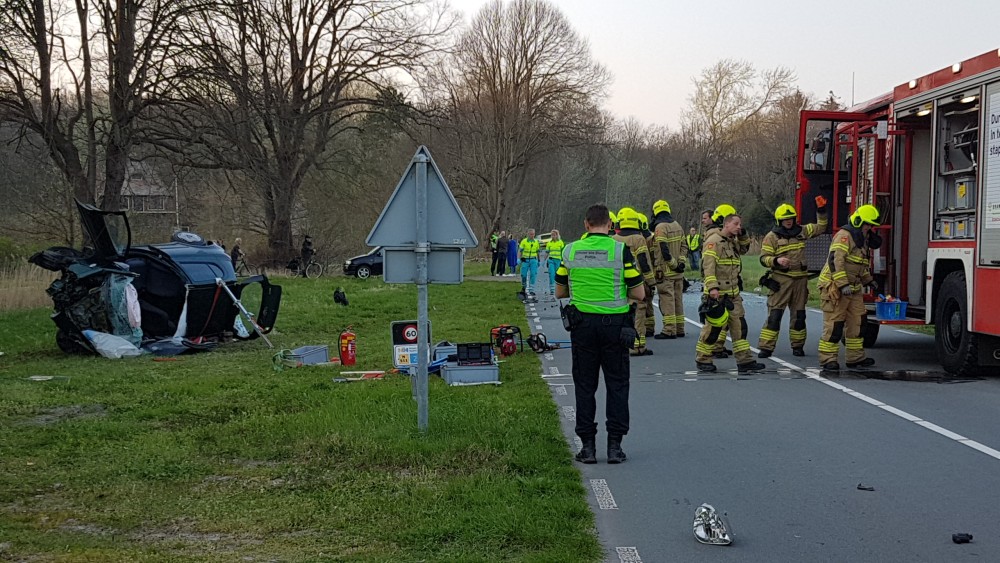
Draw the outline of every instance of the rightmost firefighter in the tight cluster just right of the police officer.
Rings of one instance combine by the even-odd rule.
[[[657,340],[684,337],[684,268],[687,264],[684,229],[670,214],[670,204],[659,200],[653,204],[654,244],[656,257],[656,293],[660,299],[663,329]]]

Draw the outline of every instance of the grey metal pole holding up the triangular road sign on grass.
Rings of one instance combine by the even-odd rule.
[[[427,430],[427,156],[416,157],[417,188],[417,428]]]

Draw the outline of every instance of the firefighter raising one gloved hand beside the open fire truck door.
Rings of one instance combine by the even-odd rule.
[[[809,300],[809,271],[806,266],[806,240],[826,232],[826,198],[816,196],[816,222],[796,223],[795,207],[783,203],[774,210],[776,226],[764,236],[760,263],[769,271],[761,285],[771,291],[767,298],[767,320],[760,330],[758,358],[774,353],[781,332],[781,316],[788,308],[791,315],[788,336],[793,356],[805,356],[806,301]]]

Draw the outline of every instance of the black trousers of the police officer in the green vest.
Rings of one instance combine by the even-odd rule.
[[[570,331],[573,343],[573,386],[576,391],[576,435],[582,440],[597,435],[597,384],[604,370],[607,395],[605,415],[609,436],[628,434],[628,346],[621,342],[622,328],[629,323],[627,314],[582,314],[580,323]]]

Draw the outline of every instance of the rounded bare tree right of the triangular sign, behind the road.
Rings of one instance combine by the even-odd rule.
[[[447,102],[456,197],[484,231],[499,229],[546,151],[587,142],[610,75],[547,0],[493,0],[474,17],[433,78]]]

